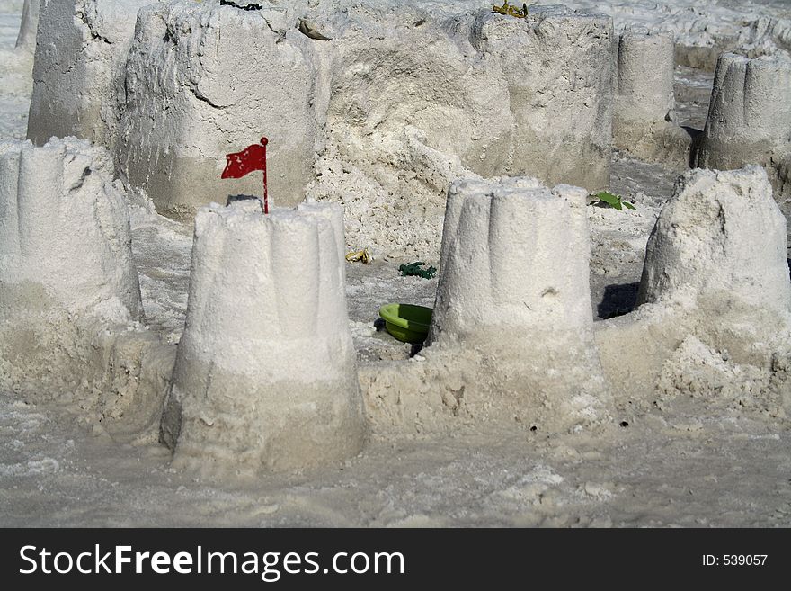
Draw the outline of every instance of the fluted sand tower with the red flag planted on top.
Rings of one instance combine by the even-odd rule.
[[[342,243],[337,205],[267,216],[257,201],[200,210],[161,430],[174,461],[253,475],[360,452]]]

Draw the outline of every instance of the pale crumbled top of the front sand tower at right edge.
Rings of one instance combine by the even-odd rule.
[[[690,171],[648,241],[638,304],[715,300],[791,312],[786,220],[759,166]]]

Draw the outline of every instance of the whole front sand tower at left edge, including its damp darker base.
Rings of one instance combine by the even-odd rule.
[[[173,356],[142,314],[107,150],[0,142],[0,389],[56,400],[101,433],[153,438]]]

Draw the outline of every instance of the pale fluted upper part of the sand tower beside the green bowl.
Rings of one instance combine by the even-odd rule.
[[[432,340],[584,339],[593,322],[586,197],[526,177],[453,184]]]

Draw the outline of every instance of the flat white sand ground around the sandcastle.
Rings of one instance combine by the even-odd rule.
[[[608,3],[575,4],[612,10]],[[657,14],[654,2],[619,4],[618,14],[651,19],[661,28],[689,29],[684,34],[697,39],[711,31],[733,31],[745,14],[757,21],[761,13],[785,10],[782,3],[729,8],[727,3],[677,0],[662,4],[667,10]],[[693,4],[698,12],[690,20]],[[0,1],[4,52],[12,51],[21,7],[21,2]],[[6,12],[11,9],[16,12]],[[22,59],[2,64],[0,103],[7,111],[0,112],[0,137],[19,138],[27,108],[24,64]],[[694,94],[689,90],[694,85],[684,86],[685,93]],[[700,116],[701,105],[683,106],[691,117]],[[675,177],[662,166],[619,157],[613,170],[616,190],[634,198],[638,210],[587,208],[593,308],[600,316],[634,304],[648,234]],[[131,221],[147,323],[176,342],[186,310],[191,228],[156,217],[143,202],[133,207]],[[384,260],[370,267],[350,264],[347,275],[361,371],[369,378],[387,374],[393,365],[381,360],[404,360],[409,347],[376,331],[378,306],[399,300],[431,306],[437,280],[403,279],[397,262]],[[623,344],[609,349],[610,363],[649,354],[639,342],[625,339]],[[401,363],[424,362],[418,356]],[[736,363],[726,352],[689,338],[660,369],[657,390],[635,389],[619,397],[611,424],[581,433],[549,432],[540,423],[479,428],[464,420],[457,400],[462,416],[455,432],[426,435],[416,428],[411,436],[382,434],[351,461],[249,486],[198,479],[171,468],[163,446],[114,443],[101,429],[91,434],[76,425],[67,404],[33,404],[3,392],[0,523],[791,525],[787,360],[778,358],[770,368]],[[768,383],[784,390],[764,398],[761,386]]]

